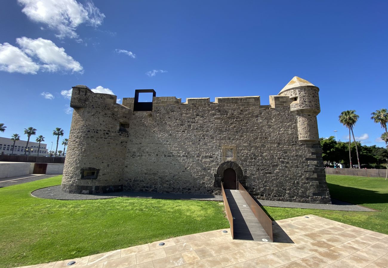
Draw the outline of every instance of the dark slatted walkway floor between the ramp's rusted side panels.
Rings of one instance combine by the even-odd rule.
[[[233,216],[233,238],[273,242],[263,229],[238,190],[225,189],[230,212]]]

